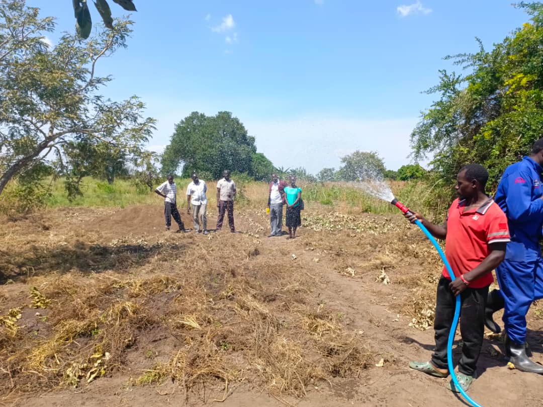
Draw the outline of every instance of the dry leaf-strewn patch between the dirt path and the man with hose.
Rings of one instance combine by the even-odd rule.
[[[334,239],[314,237],[308,248],[333,253],[338,273],[390,284],[394,291],[407,293],[394,309],[411,318],[410,327],[420,330],[432,327],[435,287],[443,264],[416,226],[409,225],[400,215],[338,212],[306,214],[304,224],[315,231],[337,234]]]

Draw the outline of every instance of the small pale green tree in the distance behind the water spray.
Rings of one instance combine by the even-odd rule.
[[[383,159],[375,151],[355,151],[345,155],[339,168],[338,178],[343,181],[356,181],[367,178],[382,178],[386,168]]]

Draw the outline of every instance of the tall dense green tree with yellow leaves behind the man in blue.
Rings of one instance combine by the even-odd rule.
[[[504,168],[543,136],[543,5],[519,3],[531,21],[486,51],[447,57],[464,74],[440,71],[428,93],[440,98],[422,115],[411,141],[416,159],[431,154],[450,187],[460,167],[487,166],[492,189]]]

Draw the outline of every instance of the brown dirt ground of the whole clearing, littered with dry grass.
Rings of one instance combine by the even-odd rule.
[[[12,335],[20,343],[14,344],[6,333],[0,341],[3,348],[0,348],[3,359],[0,404],[29,407],[203,404],[452,407],[464,404],[446,390],[446,379],[428,377],[407,367],[410,360],[427,360],[434,346],[433,330],[416,328],[431,321],[432,287],[440,273],[439,259],[430,243],[400,215],[348,214],[346,208],[332,213],[327,207],[310,207],[305,212],[304,226],[294,240],[285,236],[266,237],[267,215],[251,208],[236,209],[236,229],[240,233],[231,234],[228,228],[223,228],[209,236],[165,231],[160,205],[115,210],[59,209],[15,221],[2,220],[0,315],[26,306],[17,318],[17,333]],[[186,227],[192,227],[186,213],[182,213],[182,218]],[[216,210],[212,208],[210,229],[214,228],[215,220]],[[198,291],[183,292],[191,278],[198,278],[195,285]],[[143,285],[142,290],[147,291],[134,294],[140,290],[137,281],[157,279],[176,281],[175,288],[170,283],[168,290],[162,291]],[[86,287],[91,290],[106,283],[111,285],[111,281],[119,282],[118,290],[131,290],[130,304],[147,310],[146,317],[150,318],[148,310],[154,310],[152,321],[145,322],[141,314],[129,308],[132,305],[124,305],[122,321],[134,323],[130,333],[119,323],[121,316],[117,317],[117,324],[113,318],[108,325],[124,341],[115,368],[108,365],[102,377],[90,384],[81,379],[73,387],[62,385],[66,371],[49,376],[47,370],[28,367],[30,356],[28,360],[24,354],[16,356],[21,348],[23,353],[33,355],[33,350],[53,335],[55,324],[61,323],[55,317],[83,306],[78,303],[78,292],[83,295]],[[132,285],[128,287],[129,284]],[[41,309],[30,306],[29,290],[33,286],[53,303]],[[70,286],[80,290],[74,291],[73,303],[59,288],[69,291],[66,287]],[[88,302],[86,308],[81,308],[87,312],[85,318],[94,315],[93,307],[100,312],[108,309],[109,305],[104,304],[112,304],[108,301],[120,295],[112,290],[96,291],[100,294],[92,298],[85,294]],[[194,298],[200,295],[205,300],[198,302]],[[161,328],[167,325],[161,317],[174,315],[169,314],[174,311],[168,307],[177,301],[175,298],[182,298],[175,315],[183,316],[180,321],[184,326],[172,325],[177,330],[168,331]],[[246,308],[240,298],[245,298]],[[260,301],[260,305],[250,305],[249,298]],[[128,304],[128,299],[123,301]],[[219,304],[225,304],[226,308],[218,307]],[[233,305],[228,308],[228,304]],[[205,307],[211,307],[214,313],[209,311],[208,317],[200,317],[198,312],[204,312]],[[255,313],[260,313],[258,318]],[[528,322],[528,343],[534,360],[539,362],[543,362],[542,314],[534,306]],[[96,321],[108,324],[104,319],[106,314],[100,315],[102,320],[97,317]],[[122,315],[120,311],[118,315]],[[235,319],[241,315],[248,318],[247,325],[236,322],[242,321]],[[83,316],[80,318],[83,320]],[[269,366],[282,353],[274,353],[271,359],[266,353],[257,354],[262,352],[258,349],[279,343],[268,341],[264,332],[268,325],[262,321],[270,318],[275,322],[269,326],[276,324],[284,343],[294,343],[292,349],[297,349],[297,353],[285,350],[285,365],[275,361],[277,372]],[[186,325],[191,325],[191,330]],[[207,343],[202,338],[210,334],[204,334],[204,325],[210,329],[225,329],[228,325],[229,339],[211,341],[216,346],[203,353],[204,359],[217,360],[224,367],[194,376],[194,380],[185,374],[182,379],[185,383],[180,383],[180,376],[172,367],[175,364],[169,361],[180,349],[192,346],[191,343]],[[94,329],[98,326],[94,325]],[[243,342],[247,329],[256,335],[251,336],[250,343]],[[31,340],[32,335],[36,339]],[[60,366],[65,363],[61,352],[70,350],[69,354],[75,355],[85,347],[87,354],[96,352],[96,345],[92,345],[94,348],[89,345],[96,335],[64,340],[50,360],[59,359]],[[113,344],[114,348],[116,342],[104,339],[103,343]],[[329,348],[331,343],[340,343],[338,349],[356,352],[333,359],[330,352],[317,352],[324,343]],[[471,397],[484,406],[543,405],[543,377],[509,370],[502,352],[499,338],[488,335],[478,363],[478,378],[470,389]],[[288,359],[293,354],[297,356]],[[458,349],[455,354],[458,356]],[[217,355],[220,359],[214,359],[219,358]],[[352,362],[351,366],[353,358],[356,364]],[[311,362],[306,363],[307,360]],[[27,367],[15,369],[17,361]],[[54,366],[49,363],[53,362],[44,359],[36,366]],[[200,370],[207,366],[205,363],[198,361]],[[135,383],[142,374],[158,371],[159,365],[170,368],[165,370],[167,375],[162,380]],[[228,370],[229,366],[238,368]],[[305,366],[305,370],[298,369],[300,366]],[[292,373],[288,373],[291,368]],[[322,373],[315,375],[312,370]],[[300,372],[304,372],[303,377]]]

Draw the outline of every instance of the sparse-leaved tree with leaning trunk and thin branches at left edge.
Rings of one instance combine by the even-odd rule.
[[[43,34],[54,30],[53,18],[41,18],[24,0],[0,0],[0,194],[52,154],[70,167],[81,143],[119,154],[140,151],[154,119],[142,116],[135,96],[113,102],[100,95],[112,78],[96,71],[100,58],[126,47],[130,26],[119,20],[86,43],[65,34],[48,48]]]

